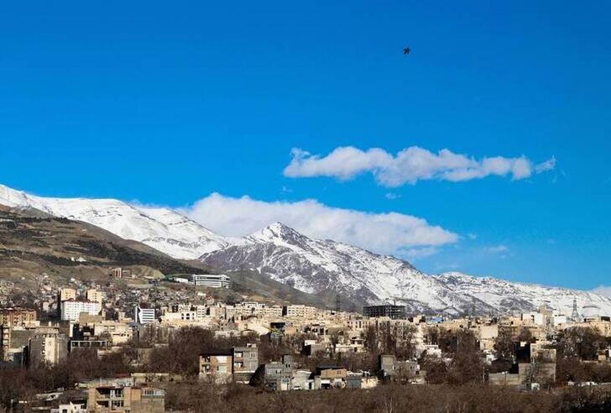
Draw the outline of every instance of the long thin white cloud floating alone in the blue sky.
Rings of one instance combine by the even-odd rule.
[[[519,180],[533,173],[554,169],[556,162],[552,157],[535,165],[524,155],[477,160],[448,149],[434,154],[418,146],[403,149],[397,155],[379,148],[362,151],[353,146],[344,146],[335,148],[324,157],[295,148],[291,156],[291,162],[284,169],[284,175],[288,177],[331,176],[345,180],[370,172],[379,184],[386,187],[415,184],[418,180],[426,179],[460,182],[491,175],[510,175],[512,179]]]

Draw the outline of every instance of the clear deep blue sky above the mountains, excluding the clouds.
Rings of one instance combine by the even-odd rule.
[[[425,270],[608,284],[611,5],[426,3],[5,4],[0,182],[398,212],[457,236],[416,259]],[[294,147],[344,146],[556,164],[392,188],[283,174]]]

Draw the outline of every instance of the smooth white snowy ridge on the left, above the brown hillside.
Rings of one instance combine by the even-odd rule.
[[[229,244],[229,239],[171,209],[134,206],[117,199],[43,198],[0,185],[0,204],[84,221],[174,258],[195,259]]]

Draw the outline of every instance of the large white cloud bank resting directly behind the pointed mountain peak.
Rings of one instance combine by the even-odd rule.
[[[459,239],[457,234],[422,218],[398,212],[372,214],[334,208],[314,199],[265,202],[249,196],[232,198],[213,193],[181,212],[219,234],[243,236],[280,221],[306,236],[333,239],[384,254],[424,256],[434,251],[419,248]]]

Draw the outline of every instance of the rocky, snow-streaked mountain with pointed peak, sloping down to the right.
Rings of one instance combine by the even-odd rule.
[[[281,223],[201,259],[223,270],[257,270],[313,294],[339,292],[357,303],[396,301],[411,311],[504,313],[546,303],[570,314],[576,299],[580,309],[611,314],[609,297],[456,272],[428,275],[401,259],[332,240],[310,239]]]

